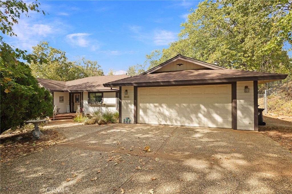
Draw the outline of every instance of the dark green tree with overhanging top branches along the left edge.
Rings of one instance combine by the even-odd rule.
[[[22,13],[29,10],[43,12],[39,3],[27,4],[23,1],[6,0],[0,2],[1,31],[8,36],[16,36],[13,25],[18,23]],[[44,12],[43,12],[44,13]],[[19,61],[42,61],[35,55],[26,54],[3,41],[0,35],[0,133],[24,124],[25,120],[43,118],[53,113],[52,98],[48,91],[40,88],[32,76],[29,66]]]

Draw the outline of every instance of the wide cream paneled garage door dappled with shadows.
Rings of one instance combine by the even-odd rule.
[[[138,88],[138,123],[232,128],[231,84]]]

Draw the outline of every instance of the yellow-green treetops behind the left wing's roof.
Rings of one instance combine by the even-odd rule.
[[[103,71],[100,69],[97,61],[91,61],[84,57],[77,57],[76,61],[69,61],[64,51],[49,46],[49,43],[46,41],[42,41],[32,48],[33,54],[46,59],[43,62],[32,61],[30,63],[32,74],[35,77],[70,81],[103,75]]]

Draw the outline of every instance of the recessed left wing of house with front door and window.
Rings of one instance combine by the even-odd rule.
[[[41,87],[49,90],[53,96],[53,105],[58,113],[77,112],[84,109],[84,114],[94,111],[119,109],[119,91],[104,87],[102,84],[129,77],[128,75],[109,75],[86,77],[72,81],[56,81],[37,78]]]

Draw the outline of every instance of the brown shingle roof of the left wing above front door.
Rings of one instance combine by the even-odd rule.
[[[56,81],[36,78],[39,84],[50,91],[98,91],[110,90],[110,87],[104,87],[103,84],[120,80],[129,77],[128,75],[107,75],[107,76],[94,76],[85,77],[72,81]]]

